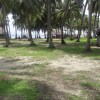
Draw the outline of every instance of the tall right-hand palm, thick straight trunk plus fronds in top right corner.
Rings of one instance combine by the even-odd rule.
[[[98,30],[99,28],[100,1],[99,0],[87,0],[86,5],[87,4],[88,4],[89,16],[88,16],[88,33],[87,33],[86,51],[91,51],[90,39],[91,39],[91,31],[93,27],[92,26],[92,16],[94,13],[95,14],[94,32],[95,32],[95,29]]]

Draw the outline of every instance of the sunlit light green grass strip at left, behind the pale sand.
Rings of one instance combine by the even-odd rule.
[[[53,59],[62,54],[61,50],[49,49],[46,46],[42,46],[42,44],[37,44],[35,47],[30,47],[27,44],[12,44],[9,48],[0,46],[0,56],[3,57],[32,56],[33,58]]]

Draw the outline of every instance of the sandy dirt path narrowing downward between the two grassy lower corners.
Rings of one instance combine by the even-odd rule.
[[[37,65],[45,67],[34,70]],[[0,57],[0,71],[9,73],[11,77],[43,81],[59,92],[59,95],[56,94],[59,100],[66,100],[66,93],[82,96],[81,82],[100,82],[100,61],[80,56],[65,55],[51,61],[34,60],[31,57]]]

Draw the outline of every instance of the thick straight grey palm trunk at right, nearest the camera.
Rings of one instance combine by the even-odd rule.
[[[85,51],[91,51],[90,39],[91,39],[92,6],[93,6],[93,0],[89,2],[89,21],[88,21],[88,33],[87,33],[87,43]]]

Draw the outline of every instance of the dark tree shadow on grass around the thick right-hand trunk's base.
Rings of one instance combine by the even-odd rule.
[[[95,57],[100,59],[100,47],[92,46],[92,52],[85,52],[85,45],[81,44],[68,44],[66,46],[60,46],[58,50],[63,51],[66,54],[81,55],[82,57]]]

